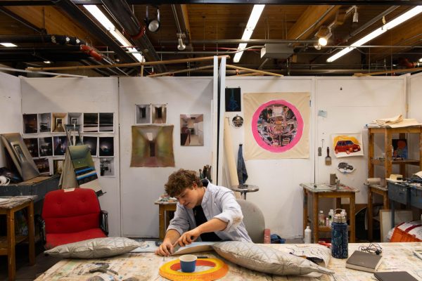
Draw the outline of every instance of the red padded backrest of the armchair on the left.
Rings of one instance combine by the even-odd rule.
[[[81,233],[98,228],[100,211],[100,203],[94,190],[76,188],[73,191],[48,192],[42,209],[46,235],[48,237],[51,233]]]

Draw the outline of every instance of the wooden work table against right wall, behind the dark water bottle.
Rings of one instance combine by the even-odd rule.
[[[323,189],[331,188],[330,185],[325,184],[314,184],[314,183],[300,183],[300,186],[303,188],[303,234],[305,236],[305,228],[308,224],[308,210],[307,210],[307,202],[308,196],[312,197],[312,203],[314,205],[312,211],[312,233],[314,235],[314,243],[318,242],[319,240],[319,232],[331,232],[331,228],[328,226],[318,226],[318,205],[319,205],[319,198],[336,198],[335,201],[335,208],[340,208],[341,205],[341,198],[348,198],[350,200],[349,211],[347,212],[349,219],[350,219],[350,226],[349,226],[349,242],[354,242],[355,240],[355,233],[356,228],[354,226],[354,199],[356,192],[359,192],[356,188],[351,188],[349,186],[340,185],[338,189],[329,190]],[[316,188],[314,187],[316,186]]]

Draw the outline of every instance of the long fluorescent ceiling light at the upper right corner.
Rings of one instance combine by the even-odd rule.
[[[332,55],[330,58],[327,59],[327,63],[332,63],[334,60],[337,60],[338,58],[345,55],[346,53],[349,53],[350,51],[354,50],[356,47],[366,44],[368,41],[371,41],[372,39],[380,36],[384,32],[391,30],[393,27],[396,27],[402,22],[405,22],[406,20],[413,18],[415,15],[418,15],[421,12],[422,12],[422,6],[416,6],[412,8],[411,10],[407,11],[406,13],[399,15],[394,20],[387,22],[385,25],[378,28],[377,30],[374,30],[373,32],[367,34],[365,37],[359,39],[353,44],[350,44],[350,47],[344,48],[342,51],[335,53],[335,55]]]

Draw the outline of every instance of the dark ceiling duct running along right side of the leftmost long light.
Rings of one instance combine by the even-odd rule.
[[[108,12],[113,14],[124,29],[124,33],[128,34],[135,42],[136,46],[141,48],[142,55],[147,61],[158,61],[160,57],[155,52],[155,48],[145,34],[145,27],[141,26],[136,19],[134,13],[125,0],[102,0],[104,6],[108,8]],[[147,51],[146,51],[147,50]],[[157,72],[166,72],[165,65],[155,65]]]

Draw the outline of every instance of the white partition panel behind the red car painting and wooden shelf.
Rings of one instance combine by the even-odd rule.
[[[315,143],[312,151],[316,157],[315,173],[317,182],[329,182],[330,173],[337,174],[340,183],[359,188],[356,203],[367,202],[367,188],[364,181],[368,177],[368,130],[364,126],[378,118],[405,115],[407,82],[400,77],[319,77],[316,78]],[[319,110],[326,117],[318,115]],[[362,133],[364,156],[336,158],[333,153],[333,133]],[[324,139],[322,156],[317,157],[318,147]],[[376,155],[381,155],[383,136],[376,136]],[[381,145],[381,148],[380,148]],[[331,149],[331,166],[325,164],[326,147]],[[355,170],[342,174],[337,170],[340,162],[347,162]],[[378,167],[377,167],[378,168]],[[376,169],[381,172],[382,168]],[[381,174],[377,174],[381,176]],[[347,203],[348,202],[343,202]]]

